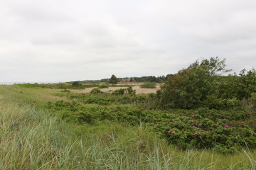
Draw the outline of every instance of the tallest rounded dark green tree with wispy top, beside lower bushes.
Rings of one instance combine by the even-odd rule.
[[[196,61],[186,69],[169,77],[157,91],[161,108],[198,108],[210,94],[218,93],[218,76],[225,69],[225,60],[210,57]]]

